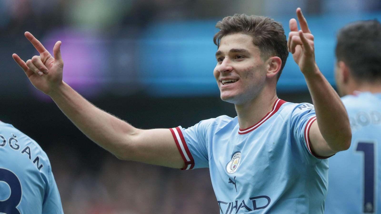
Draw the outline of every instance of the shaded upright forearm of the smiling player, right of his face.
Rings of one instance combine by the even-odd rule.
[[[351,143],[351,127],[343,102],[317,65],[315,71],[305,74],[315,107],[320,133],[334,151],[346,150]]]

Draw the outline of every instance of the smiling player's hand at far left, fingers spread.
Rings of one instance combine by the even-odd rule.
[[[50,96],[56,88],[62,85],[64,61],[61,57],[61,41],[56,42],[54,45],[53,57],[32,34],[25,32],[25,37],[40,53],[40,56],[33,56],[32,59],[28,59],[26,62],[17,54],[13,54],[12,57],[24,70],[34,87]]]

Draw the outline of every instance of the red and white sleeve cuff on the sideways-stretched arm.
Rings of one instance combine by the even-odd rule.
[[[188,170],[194,168],[194,159],[188,146],[185,142],[184,136],[182,135],[181,129],[179,127],[170,128],[174,142],[176,142],[177,149],[179,150],[182,160],[184,160],[185,166],[182,170]]]

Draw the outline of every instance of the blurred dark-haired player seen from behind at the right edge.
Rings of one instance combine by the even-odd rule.
[[[350,149],[330,160],[329,214],[381,212],[380,50],[379,21],[354,22],[338,32],[336,83],[353,137]]]

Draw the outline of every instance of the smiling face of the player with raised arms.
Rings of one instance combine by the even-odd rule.
[[[223,101],[243,104],[253,100],[266,82],[266,67],[261,51],[247,34],[221,38],[216,53],[214,76]]]

